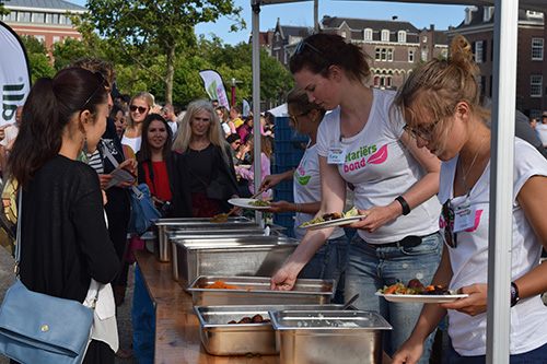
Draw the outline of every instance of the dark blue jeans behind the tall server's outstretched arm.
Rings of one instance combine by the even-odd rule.
[[[300,271],[299,278],[336,281],[335,303],[344,303],[344,268],[349,242],[346,235],[326,240]]]

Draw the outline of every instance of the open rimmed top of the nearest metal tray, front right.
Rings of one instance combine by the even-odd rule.
[[[276,330],[392,330],[373,310],[270,310]]]

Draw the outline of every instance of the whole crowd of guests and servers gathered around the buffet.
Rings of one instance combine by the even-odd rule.
[[[357,308],[392,324],[384,350],[394,363],[429,363],[445,317],[444,361],[485,362],[490,111],[470,49],[457,36],[451,58],[421,64],[392,92],[364,85],[371,69],[359,46],[328,34],[301,42],[290,59],[298,86],[287,102],[290,125],[310,142],[299,166],[278,175],[270,171],[271,115],[254,125],[238,105],[196,99],[178,110],[149,92],[113,93],[115,69],[92,58],[37,80],[16,122],[0,128],[4,177],[22,195],[22,282],[80,302],[94,284],[97,303],[112,315],[95,322],[84,363],[131,356],[118,348],[114,307],[125,301],[130,250],[143,245],[128,233],[132,186],[146,184],[164,218],[211,218],[229,211],[231,198],[257,192],[271,200],[274,186],[292,180],[294,202],[274,200],[266,210],[294,212],[301,240],[271,278],[272,290],[291,290],[296,278],[336,280],[336,302],[359,295]],[[526,128],[515,130],[511,363],[547,357],[547,308],[539,297],[547,290],[540,263],[547,160],[545,142],[533,132],[534,140],[521,137],[529,134]],[[115,179],[118,169],[129,177]],[[341,227],[300,227],[344,211],[348,188],[361,216],[346,225],[357,230],[352,238]],[[374,295],[412,279],[468,296],[423,305]],[[154,308],[138,267],[132,303],[135,356],[152,363]]]

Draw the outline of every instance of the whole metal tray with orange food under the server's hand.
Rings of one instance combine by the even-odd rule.
[[[216,281],[235,285],[241,290],[203,289]],[[330,303],[336,291],[334,280],[299,279],[292,291],[270,291],[269,277],[200,275],[187,291],[195,306],[222,305],[324,305]]]

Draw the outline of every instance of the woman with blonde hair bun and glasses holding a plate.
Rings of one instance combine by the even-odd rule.
[[[418,145],[443,161],[439,199],[444,203],[440,224],[446,246],[433,283],[469,296],[426,305],[394,363],[415,363],[423,338],[446,314],[447,363],[486,360],[490,129],[485,120],[490,111],[479,101],[473,58],[469,43],[456,37],[451,58],[417,69],[395,99]],[[539,261],[542,246],[547,246],[547,162],[519,138],[514,146],[511,363],[545,363],[547,308],[539,294],[547,290],[547,265]]]

